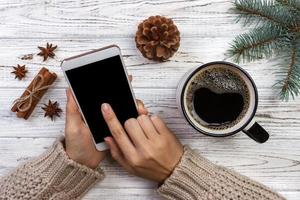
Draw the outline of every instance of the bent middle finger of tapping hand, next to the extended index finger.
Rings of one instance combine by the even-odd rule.
[[[147,142],[146,135],[136,119],[131,118],[126,120],[124,127],[136,147],[140,147]]]

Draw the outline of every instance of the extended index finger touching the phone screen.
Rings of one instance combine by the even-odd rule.
[[[135,148],[128,138],[125,130],[123,129],[123,126],[120,124],[111,106],[108,103],[103,103],[101,105],[101,111],[112,136],[114,137],[122,152],[128,155],[134,153]]]

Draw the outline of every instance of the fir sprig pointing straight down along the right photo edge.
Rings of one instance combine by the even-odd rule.
[[[300,41],[293,41],[290,51],[283,59],[283,65],[285,64],[286,70],[283,70],[277,74],[282,76],[283,79],[278,81],[275,85],[281,87],[280,98],[288,101],[290,97],[293,99],[300,94]]]

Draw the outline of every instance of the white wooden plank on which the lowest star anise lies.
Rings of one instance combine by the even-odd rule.
[[[179,137],[204,137],[191,128],[177,110],[175,89],[134,88],[134,91],[136,97],[145,102],[150,112],[160,115]],[[15,113],[10,111],[12,102],[22,92],[23,89],[0,88],[0,127],[2,127],[0,137],[56,137],[63,133],[65,112],[63,112],[61,118],[57,118],[55,122],[52,122],[43,117],[44,111],[41,109],[41,106],[43,103],[47,103],[48,99],[51,99],[58,101],[61,108],[64,109],[66,103],[65,89],[50,89],[27,121],[16,118]],[[261,99],[256,118],[270,132],[273,139],[299,138],[299,108],[300,101],[287,103]],[[240,133],[233,139],[248,138]]]

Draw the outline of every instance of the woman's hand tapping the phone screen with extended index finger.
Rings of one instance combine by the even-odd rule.
[[[102,104],[113,137],[106,137],[112,157],[128,172],[162,183],[183,154],[183,146],[157,116],[140,115],[123,126],[111,106]]]

